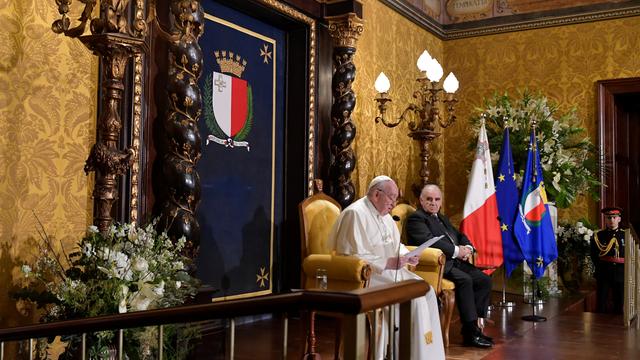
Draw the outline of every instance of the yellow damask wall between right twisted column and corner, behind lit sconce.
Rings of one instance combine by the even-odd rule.
[[[442,59],[443,43],[435,36],[398,15],[378,0],[364,1],[364,32],[358,40],[356,52],[356,108],[352,120],[356,125],[356,140],[352,144],[357,154],[356,170],[352,180],[357,196],[366,191],[371,178],[385,174],[398,182],[400,190],[413,199],[411,184],[419,178],[418,147],[415,140],[407,136],[407,123],[387,128],[375,124],[377,106],[373,101],[376,91],[373,84],[381,71],[391,81],[390,95],[393,101],[388,111],[389,119],[395,120],[411,99],[418,77],[416,61],[427,49],[431,56]],[[436,140],[431,149],[436,154],[442,151],[443,141]],[[432,174],[442,174],[443,159],[432,159]]]

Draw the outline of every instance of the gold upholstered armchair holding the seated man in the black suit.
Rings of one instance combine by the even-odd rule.
[[[416,211],[416,208],[406,203],[398,203],[396,207],[391,210],[391,215],[395,215],[400,218],[396,222],[398,230],[401,234],[401,240],[403,244],[406,244],[406,233],[404,227],[407,221],[407,217]],[[407,246],[409,250],[413,250],[415,246]],[[444,346],[449,346],[449,327],[451,325],[451,317],[453,316],[453,310],[455,308],[455,285],[453,282],[443,279],[444,275],[444,263],[445,257],[442,250],[436,248],[425,249],[420,255],[420,261],[415,266],[413,272],[416,275],[423,278],[429,283],[436,291],[436,294],[440,300],[440,328],[442,329],[442,340]]]

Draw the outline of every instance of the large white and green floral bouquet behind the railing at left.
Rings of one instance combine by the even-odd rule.
[[[33,266],[22,266],[24,280],[14,297],[36,303],[44,322],[182,305],[198,286],[188,273],[190,259],[181,255],[185,239],[173,242],[155,225],[114,225],[104,234],[90,226],[77,249],[68,254],[64,249],[55,251],[51,239],[43,235],[42,256]],[[131,330],[129,335],[128,347],[136,349],[127,354],[129,358],[151,355],[149,346],[157,343],[157,337],[148,330]],[[94,334],[90,357],[107,358],[113,337],[112,332]],[[77,345],[74,338],[65,340],[68,350]]]

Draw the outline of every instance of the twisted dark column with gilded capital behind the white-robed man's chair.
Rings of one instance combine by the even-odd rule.
[[[331,163],[329,165],[329,194],[347,207],[354,200],[355,189],[351,173],[356,166],[356,155],[351,143],[356,136],[356,127],[351,121],[351,113],[356,106],[356,96],[351,85],[355,80],[356,67],[353,56],[356,52],[358,36],[364,29],[362,19],[356,14],[327,18],[329,33],[333,39],[332,79],[333,105],[331,106]]]

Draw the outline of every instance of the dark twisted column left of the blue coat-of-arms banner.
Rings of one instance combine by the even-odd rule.
[[[161,206],[160,226],[169,236],[187,240],[187,255],[194,256],[200,244],[200,226],[195,209],[200,201],[200,177],[196,164],[201,157],[198,119],[202,97],[198,79],[202,74],[204,12],[199,1],[172,0],[166,118],[163,120],[167,151],[162,159],[162,176],[167,187]]]

